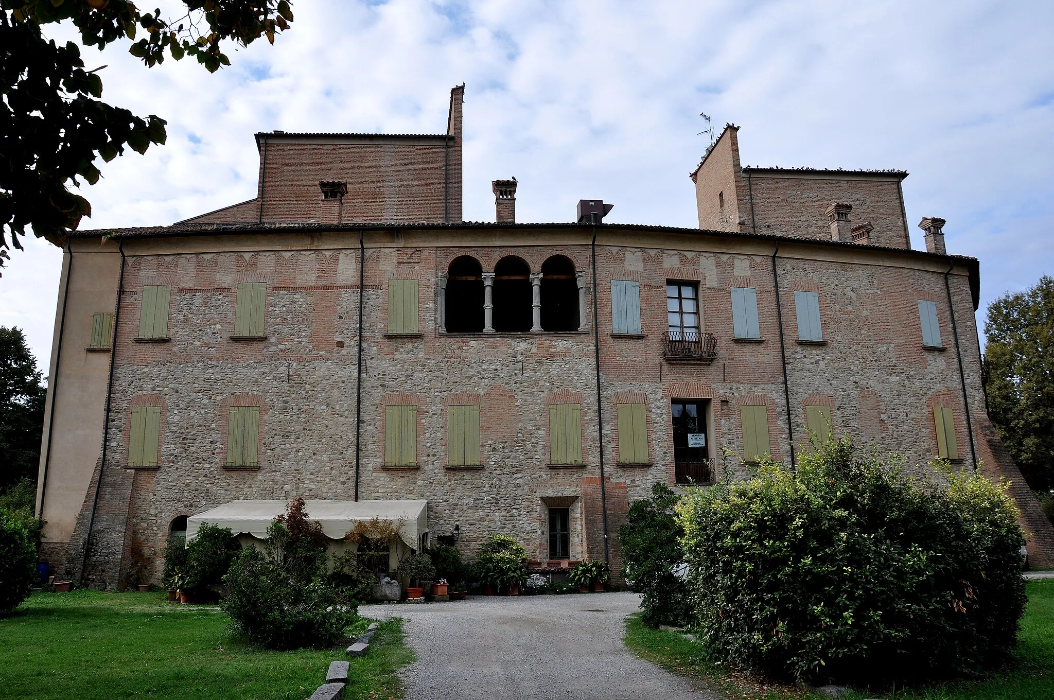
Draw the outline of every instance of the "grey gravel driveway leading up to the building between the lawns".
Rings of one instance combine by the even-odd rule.
[[[474,596],[359,612],[407,621],[417,655],[402,672],[410,700],[713,699],[625,647],[624,620],[639,604],[629,592]]]

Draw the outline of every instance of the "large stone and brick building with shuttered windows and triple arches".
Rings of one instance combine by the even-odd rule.
[[[906,173],[743,168],[729,125],[691,175],[698,229],[607,223],[600,200],[516,223],[514,180],[467,222],[462,95],[441,135],[257,134],[254,199],[70,237],[38,493],[55,567],[156,581],[187,517],[302,495],[427,501],[408,547],[504,532],[618,570],[653,483],[828,429],[1006,475],[1054,565],[985,413],[978,261],[938,218],[911,249]]]

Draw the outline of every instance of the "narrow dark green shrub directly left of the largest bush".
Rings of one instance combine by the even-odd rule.
[[[684,561],[674,506],[680,494],[665,484],[651,486],[651,498],[635,501],[619,528],[625,562],[623,576],[630,590],[641,594],[641,619],[657,627],[688,623],[688,589],[675,570]]]

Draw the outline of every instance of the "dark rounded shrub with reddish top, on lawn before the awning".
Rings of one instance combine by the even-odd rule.
[[[318,530],[302,501],[289,504],[268,528],[265,551],[250,547],[231,565],[220,603],[234,631],[269,648],[332,646],[356,619],[357,602],[326,572]],[[372,585],[372,584],[371,584]],[[371,590],[372,592],[372,590]]]

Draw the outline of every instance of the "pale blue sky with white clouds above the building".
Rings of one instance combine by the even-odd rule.
[[[153,6],[153,5],[152,5]],[[162,5],[163,7],[163,5]],[[172,223],[255,196],[252,134],[442,133],[466,83],[465,218],[520,180],[521,221],[697,226],[700,112],[740,125],[744,164],[897,168],[910,222],[941,216],[981,260],[982,305],[1054,272],[1054,3],[299,0],[274,46],[210,75],[85,52],[103,97],[169,141],[102,167],[82,228]],[[50,36],[65,39],[66,27]],[[920,230],[912,242],[922,248]],[[61,255],[36,241],[0,278],[0,325],[50,354]],[[982,306],[983,311],[983,306]],[[979,316],[982,320],[982,314]],[[46,367],[43,367],[46,372]]]

